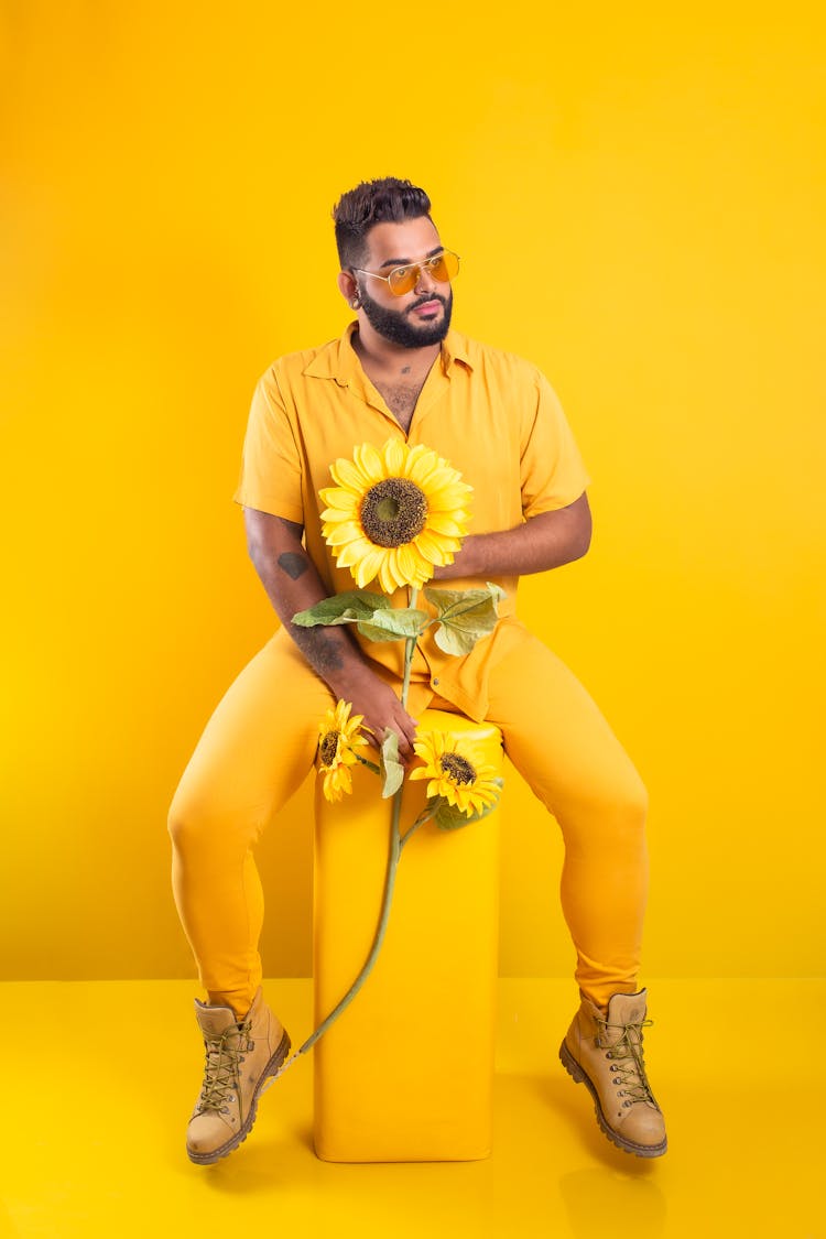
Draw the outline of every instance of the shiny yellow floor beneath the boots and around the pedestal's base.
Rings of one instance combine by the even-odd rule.
[[[303,1038],[310,983],[266,992]],[[201,1069],[193,994],[181,981],[0,985],[0,1235],[826,1237],[826,981],[650,984],[648,1059],[670,1139],[650,1162],[602,1136],[559,1063],[570,983],[510,980],[488,1161],[318,1161],[302,1059],[266,1094],[240,1150],[192,1166],[182,1135]]]

